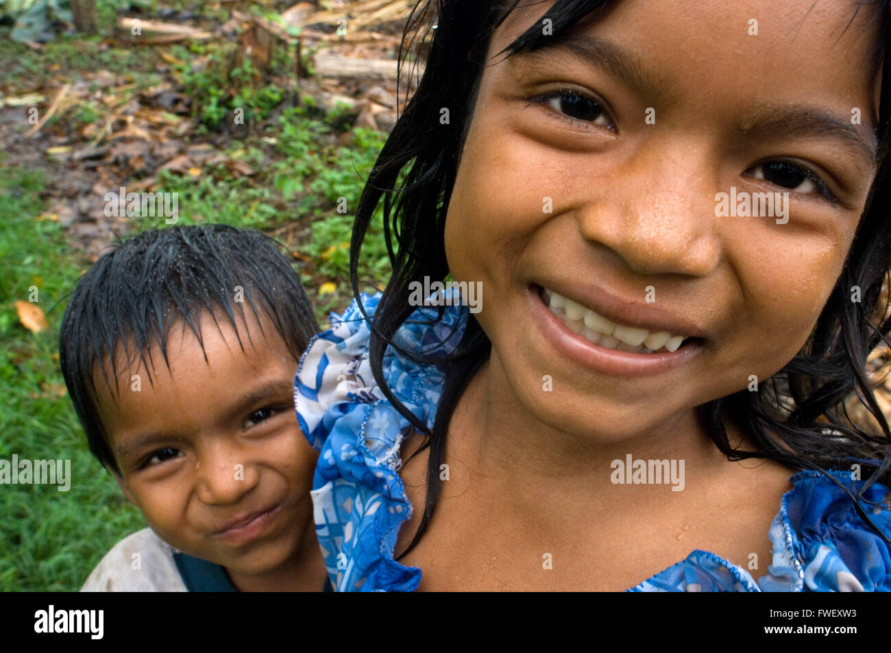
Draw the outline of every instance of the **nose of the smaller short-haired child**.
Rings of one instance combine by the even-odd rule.
[[[208,505],[238,502],[257,486],[257,467],[241,448],[225,437],[211,436],[202,443],[195,469],[198,498]]]

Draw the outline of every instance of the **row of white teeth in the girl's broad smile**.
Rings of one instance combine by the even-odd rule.
[[[539,287],[544,306],[556,315],[569,331],[588,342],[606,349],[636,354],[673,353],[697,338],[669,331],[650,331],[626,326],[603,317],[589,308],[576,304],[552,290]]]

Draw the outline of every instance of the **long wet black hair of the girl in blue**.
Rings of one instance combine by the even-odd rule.
[[[552,45],[580,20],[589,15],[596,20],[599,12],[617,2],[621,0],[557,0],[499,54],[511,56]],[[446,428],[464,389],[486,361],[491,344],[473,314],[467,314],[461,344],[447,359],[446,380],[432,429],[405,409],[388,388],[381,373],[382,358],[386,347],[396,347],[392,342],[396,330],[415,310],[409,302],[410,284],[421,282],[425,276],[442,280],[449,273],[444,229],[460,154],[490,39],[518,4],[519,0],[421,0],[415,4],[405,28],[403,45],[408,44],[405,52],[409,53],[421,46],[429,47],[429,57],[416,92],[372,168],[356,213],[350,243],[350,280],[360,306],[358,260],[365,233],[381,200],[384,233],[393,267],[373,317],[369,347],[372,371],[390,403],[424,436],[421,449],[413,455],[429,449],[424,511],[412,542],[399,557],[414,548],[429,526],[441,487],[439,466],[446,452]],[[816,469],[823,474],[826,469],[848,469],[854,462],[862,464],[871,470],[869,478],[864,474],[862,494],[877,481],[891,480],[888,447],[891,430],[876,403],[865,370],[867,356],[881,342],[887,344],[891,334],[887,301],[880,301],[883,282],[888,282],[891,269],[891,158],[888,156],[891,47],[888,47],[888,0],[860,0],[855,4],[854,16],[862,8],[871,7],[874,11],[870,24],[879,20],[879,42],[871,52],[869,64],[876,74],[880,65],[884,65],[884,70],[877,134],[878,172],[846,265],[805,347],[771,380],[762,384],[764,391],[744,389],[703,404],[699,406],[699,419],[715,446],[730,461],[772,459],[793,469]],[[544,35],[544,19],[552,20],[552,35]],[[433,29],[434,23],[436,29]],[[403,53],[401,47],[400,61]],[[402,68],[400,64],[400,75]],[[451,114],[446,125],[438,119],[443,107],[448,107]],[[862,292],[859,303],[851,301],[849,295],[854,286]],[[440,316],[442,310],[440,307]],[[367,318],[367,314],[365,316]],[[443,363],[441,358],[428,361],[417,352],[403,349],[400,352],[419,362]],[[852,395],[857,396],[879,423],[880,436],[854,424],[845,407],[846,398]],[[734,448],[728,440],[726,423],[748,433],[756,450]],[[829,478],[842,486],[835,478]],[[854,494],[842,487],[854,501],[861,518],[872,526]],[[858,498],[866,501],[862,496]],[[887,535],[879,535],[891,543]]]

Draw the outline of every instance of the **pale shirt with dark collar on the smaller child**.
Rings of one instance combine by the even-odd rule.
[[[151,528],[105,554],[81,592],[238,592],[225,568],[177,551]]]

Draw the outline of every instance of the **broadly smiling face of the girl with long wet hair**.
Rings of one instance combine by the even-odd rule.
[[[805,344],[875,172],[878,24],[846,29],[853,2],[621,0],[571,45],[495,57],[549,5],[489,45],[446,254],[537,420],[651,434]],[[670,353],[661,331],[688,339]],[[657,353],[614,348],[644,335]]]

